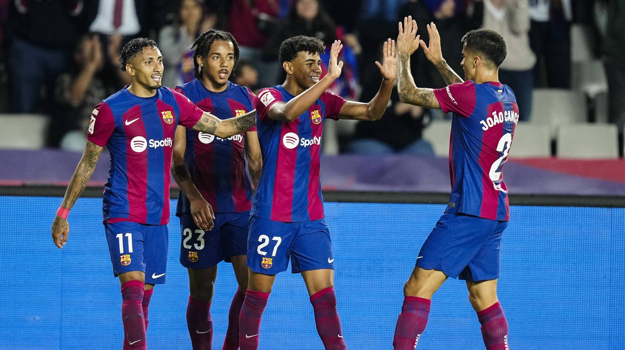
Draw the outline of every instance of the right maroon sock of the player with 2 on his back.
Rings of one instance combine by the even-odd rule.
[[[486,350],[508,350],[507,321],[499,301],[477,312]]]

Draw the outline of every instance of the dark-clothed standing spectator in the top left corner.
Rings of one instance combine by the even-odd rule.
[[[72,50],[91,22],[84,11],[88,6],[83,0],[12,1],[9,64],[14,111],[37,111],[42,86],[52,94],[54,81],[71,62]]]

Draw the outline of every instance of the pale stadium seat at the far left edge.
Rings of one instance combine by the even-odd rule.
[[[0,114],[0,148],[43,148],[48,123],[42,114]]]

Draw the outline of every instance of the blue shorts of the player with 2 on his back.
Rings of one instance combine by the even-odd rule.
[[[423,243],[416,266],[469,281],[497,279],[506,226],[507,221],[446,212]]]

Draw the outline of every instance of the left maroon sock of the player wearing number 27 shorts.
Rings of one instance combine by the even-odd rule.
[[[269,293],[247,289],[239,314],[239,346],[241,350],[258,349],[262,312],[265,311]]]

